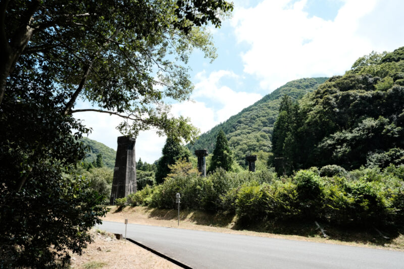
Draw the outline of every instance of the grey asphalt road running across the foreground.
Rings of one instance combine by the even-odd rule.
[[[125,225],[99,229],[125,236]],[[128,224],[127,237],[192,268],[404,268],[404,252]]]

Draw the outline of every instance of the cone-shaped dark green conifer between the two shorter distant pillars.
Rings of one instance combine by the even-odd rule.
[[[233,164],[233,158],[231,155],[232,154],[226,135],[223,130],[220,130],[216,138],[216,146],[213,150],[209,172],[213,172],[219,167],[225,171],[231,170],[231,166]]]

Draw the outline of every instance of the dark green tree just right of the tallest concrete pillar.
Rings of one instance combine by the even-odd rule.
[[[177,160],[181,158],[184,158],[186,162],[188,162],[189,156],[191,155],[188,149],[181,146],[177,140],[171,137],[167,138],[162,153],[163,156],[157,163],[156,182],[158,184],[163,183],[164,179],[170,173],[169,166],[174,165]]]

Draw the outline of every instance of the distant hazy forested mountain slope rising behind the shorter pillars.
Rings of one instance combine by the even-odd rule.
[[[193,145],[188,144],[187,147],[191,152],[195,149],[208,149],[208,152],[212,153],[216,136],[222,129],[229,140],[235,160],[240,165],[245,165],[245,155],[259,151],[270,152],[270,138],[274,122],[278,117],[281,97],[286,94],[293,100],[299,99],[306,93],[316,90],[326,79],[303,78],[290,81],[224,123],[202,134]]]

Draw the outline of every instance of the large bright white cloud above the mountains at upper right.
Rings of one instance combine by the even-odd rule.
[[[310,16],[304,11],[306,2],[265,0],[255,8],[235,11],[237,40],[250,45],[241,55],[244,72],[256,75],[264,89],[302,77],[343,74],[372,50],[391,50],[404,42],[402,34],[388,47],[388,42],[376,42],[386,31],[402,32],[401,14],[378,8],[388,2],[393,9],[393,1],[346,0],[333,21]],[[399,2],[394,3],[403,6]],[[394,28],[368,30],[371,20],[365,19],[370,16],[392,22],[388,25]]]

